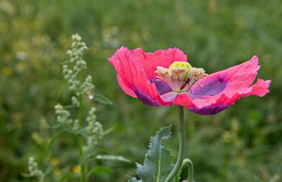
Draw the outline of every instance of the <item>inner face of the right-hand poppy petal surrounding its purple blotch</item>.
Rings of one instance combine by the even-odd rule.
[[[197,108],[207,107],[221,98],[221,94],[234,95],[240,90],[250,90],[250,85],[257,76],[259,70],[257,56],[253,56],[250,61],[232,66],[226,70],[212,73],[200,80],[192,87],[192,103]]]

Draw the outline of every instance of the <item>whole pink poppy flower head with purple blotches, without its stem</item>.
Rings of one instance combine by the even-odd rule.
[[[258,79],[257,56],[238,66],[207,75],[193,68],[178,48],[153,53],[121,47],[109,58],[118,84],[131,97],[150,107],[181,105],[202,115],[223,111],[240,97],[269,92],[271,80]]]

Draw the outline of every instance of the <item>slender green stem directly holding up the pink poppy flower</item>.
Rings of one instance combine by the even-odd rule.
[[[176,165],[174,166],[171,173],[166,178],[165,182],[171,182],[178,174],[179,169],[183,163],[184,153],[185,153],[185,123],[184,123],[184,111],[182,106],[178,106],[178,119],[179,119],[179,128],[180,128],[180,145],[179,145],[179,152],[178,152],[178,159]],[[178,182],[178,181],[176,181]]]

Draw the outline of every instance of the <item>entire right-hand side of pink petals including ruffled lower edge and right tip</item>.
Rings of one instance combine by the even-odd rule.
[[[195,85],[191,95],[178,96],[173,104],[180,104],[197,114],[207,115],[226,109],[240,97],[263,97],[269,92],[270,80],[258,79],[255,85],[250,86],[258,69],[257,56],[253,56],[250,61],[208,75],[199,81],[202,86]]]

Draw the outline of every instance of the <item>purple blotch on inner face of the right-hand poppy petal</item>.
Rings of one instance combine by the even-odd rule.
[[[226,88],[227,80],[222,76],[219,76],[202,84],[203,86],[195,85],[195,87],[192,87],[191,95],[195,97],[217,95]]]

